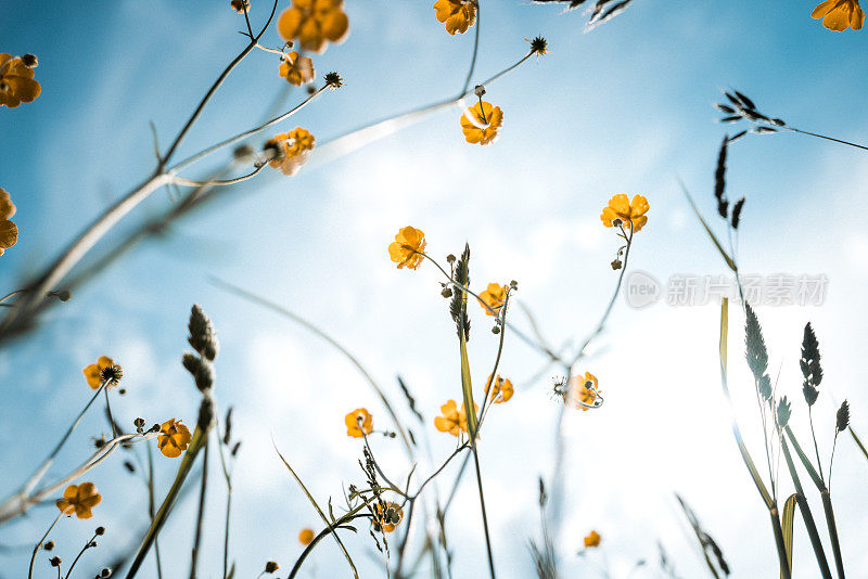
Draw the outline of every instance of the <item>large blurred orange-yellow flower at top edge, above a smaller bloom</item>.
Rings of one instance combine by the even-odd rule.
[[[304,50],[323,52],[349,31],[344,0],[293,0],[278,20],[278,31],[286,41],[298,39]]]

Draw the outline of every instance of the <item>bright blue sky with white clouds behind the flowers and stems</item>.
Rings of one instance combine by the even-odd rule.
[[[812,2],[634,3],[585,35],[579,12],[483,2],[477,79],[524,54],[524,37],[540,34],[551,46],[538,64],[531,61],[487,87],[486,99],[505,114],[497,143],[465,143],[460,112],[448,110],[346,157],[311,159],[292,179],[264,175],[179,223],[171,235],[139,247],[55,308],[38,334],[4,345],[0,487],[15,489],[52,447],[88,396],[80,369],[100,355],[125,369],[128,395],[116,397],[116,415],[127,422],[139,415],[149,422],[170,416],[194,422],[197,394],[179,360],[189,308],[200,303],[222,342],[219,403],[235,407],[244,441],[232,536],[239,570],[251,576],[269,558],[290,565],[301,551],[297,530],[316,527],[317,517],[279,464],[271,437],[324,501],[340,497],[342,484],[360,480],[360,445],[345,436],[344,414],[365,406],[378,427],[390,425],[374,395],[339,353],[216,288],[210,276],[303,313],[346,345],[396,399],[394,376],[403,375],[429,419],[435,455],[445,456],[454,440],[436,433],[431,417],[445,400],[460,396],[454,331],[434,269],[398,271],[388,261],[385,247],[399,227],[422,229],[429,249],[439,257],[458,253],[468,241],[474,285],[518,280],[518,298],[558,344],[592,329],[614,284],[609,262],[617,240],[598,217],[614,193],[641,193],[651,205],[631,267],[659,280],[724,273],[677,185],[682,179],[714,217],[713,172],[726,128],[716,123],[712,103],[720,89],[735,88],[795,127],[865,141],[865,34],[826,30],[809,18]],[[243,47],[237,34],[242,21],[222,3],[213,4],[103,1],[82,10],[33,1],[7,11],[12,16],[0,23],[0,51],[39,56],[42,94],[0,114],[0,186],[17,205],[14,220],[22,232],[18,245],[0,259],[1,288],[17,287],[153,169],[149,121],[165,147]],[[401,4],[346,0],[349,38],[315,60],[319,72],[339,70],[346,87],[322,95],[280,130],[301,125],[324,142],[458,91],[471,36],[447,35],[426,2]],[[255,23],[265,11],[254,1]],[[273,29],[265,39],[280,43]],[[282,89],[272,56],[252,54],[232,74],[178,158],[258,123]],[[286,102],[298,99],[290,94]],[[221,160],[218,155],[190,175],[204,175]],[[815,419],[825,456],[841,399],[851,400],[854,426],[868,433],[861,411],[868,395],[860,387],[868,362],[859,350],[860,329],[868,322],[860,307],[868,234],[859,214],[867,177],[864,152],[796,134],[749,136],[729,155],[729,194],[748,197],[742,271],[829,278],[821,307],[760,309],[771,366],[781,369],[780,387],[796,401],[794,420],[803,437],[796,360],[802,326],[810,320],[817,329],[827,377]],[[171,203],[159,191],[119,229]],[[488,320],[475,313],[471,360],[480,382],[496,342]],[[565,425],[567,524],[558,545],[565,576],[598,577],[601,565],[613,577],[626,576],[637,559],[656,557],[658,541],[682,576],[699,576],[701,562],[674,503],[675,491],[720,543],[735,576],[774,572],[766,515],[740,463],[719,391],[718,314],[715,305],[634,310],[618,300],[599,351],[582,369],[600,378],[607,402],[599,411],[569,414]],[[526,326],[519,308],[511,316]],[[733,320],[730,329],[733,384],[739,384],[733,396],[760,453],[749,374],[739,363],[739,323]],[[502,371],[515,383],[516,395],[492,414],[481,448],[503,577],[533,572],[526,543],[538,532],[536,478],[550,473],[558,413],[549,393],[554,371],[527,383],[542,363],[508,336]],[[58,473],[80,460],[89,437],[104,429],[99,414],[82,423]],[[839,442],[832,492],[855,576],[868,572],[860,549],[868,501],[858,490],[868,464],[850,440]],[[406,474],[400,450],[388,441],[375,443],[383,462]],[[176,463],[157,458],[158,483],[167,488]],[[105,524],[108,533],[88,554],[88,569],[137,540],[145,504],[141,483],[119,460],[92,478],[104,496],[92,520]],[[222,485],[214,483],[204,577],[220,572]],[[485,570],[470,483],[450,520],[459,577]],[[808,498],[819,507],[816,496]],[[193,501],[182,504],[165,530],[167,558],[186,561],[192,506]],[[35,541],[50,512],[37,509],[0,528],[0,544]],[[578,558],[577,545],[591,528],[603,535],[603,549]],[[61,556],[71,559],[90,531],[85,522],[62,522]],[[382,563],[366,554],[371,550],[366,537],[359,533],[349,544],[360,553],[363,576],[378,577]],[[814,577],[803,532],[795,545],[795,577]],[[26,558],[27,549],[0,552],[0,577],[20,576]],[[345,574],[333,544],[323,544],[314,563],[310,570],[318,577]],[[646,570],[634,577],[654,575]]]

